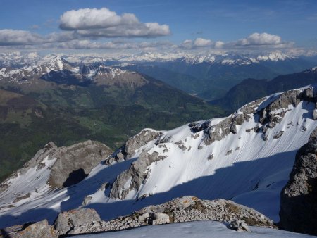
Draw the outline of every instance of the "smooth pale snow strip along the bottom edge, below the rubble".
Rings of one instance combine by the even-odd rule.
[[[101,234],[87,234],[75,237],[80,238],[99,238],[99,237],[215,237],[215,238],[266,238],[266,237],[313,237],[307,234],[286,232],[284,230],[275,230],[263,227],[249,227],[251,232],[235,232],[228,229],[223,223],[215,221],[200,221],[190,223],[174,223],[168,225],[151,225],[139,227],[131,230],[118,232],[106,232]]]

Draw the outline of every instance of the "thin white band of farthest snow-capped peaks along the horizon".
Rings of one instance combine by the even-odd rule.
[[[49,54],[44,57],[32,52],[23,54],[20,52],[0,53],[0,65],[10,67],[13,65],[42,65],[50,63],[54,58],[66,58],[70,62],[96,63],[96,62],[120,62],[120,63],[139,63],[139,62],[168,62],[185,61],[187,63],[221,63],[229,65],[245,65],[259,63],[261,61],[285,61],[295,58],[280,51],[272,51],[268,54],[228,54],[223,51],[213,53],[192,54],[187,52],[142,52],[140,54],[107,54],[107,55],[82,55],[82,54]]]

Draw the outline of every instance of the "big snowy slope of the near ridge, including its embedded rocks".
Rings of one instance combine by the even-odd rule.
[[[312,92],[313,87],[307,87],[274,94],[247,104],[228,118],[159,132],[159,137],[145,144],[135,142],[137,147],[125,159],[118,156],[117,162],[97,165],[85,180],[73,187],[31,196],[23,202],[8,199],[14,194],[9,195],[5,190],[0,194],[0,227],[43,218],[52,221],[58,211],[81,206],[87,196],[90,199],[87,207],[96,209],[102,219],[193,195],[200,199],[232,199],[278,221],[280,191],[288,180],[295,154],[317,126],[313,120]],[[309,96],[305,97],[306,94]],[[296,103],[292,104],[289,97]],[[237,123],[234,130],[232,121],[242,114],[246,120]],[[230,131],[226,122],[231,123]],[[138,140],[135,137],[135,141]],[[118,155],[120,153],[119,150]],[[154,157],[156,159],[151,161]],[[141,170],[144,159],[148,160]],[[137,165],[140,166],[137,168]],[[15,183],[21,184],[16,192],[30,192],[30,187],[23,184],[34,179],[32,173],[15,179]],[[31,177],[27,177],[29,174]],[[41,186],[44,189],[46,183]]]

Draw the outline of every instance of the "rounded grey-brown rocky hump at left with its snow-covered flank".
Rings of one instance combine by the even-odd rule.
[[[101,142],[88,140],[67,147],[57,147],[50,142],[23,168],[0,184],[0,197],[15,203],[30,199],[32,192],[39,194],[47,192],[47,189],[68,187],[83,180],[92,168],[110,154],[111,149]],[[32,179],[33,184],[19,180],[23,175],[27,177],[32,174],[37,175]],[[10,195],[10,189],[14,190],[15,197]],[[28,189],[28,193],[25,193],[25,189]]]

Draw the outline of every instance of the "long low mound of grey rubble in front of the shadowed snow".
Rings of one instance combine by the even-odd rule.
[[[72,213],[72,211],[68,213]],[[109,221],[100,221],[98,216],[96,218],[89,216],[87,220],[85,220],[85,218],[82,220],[82,218],[76,217],[80,222],[77,220],[77,225],[75,225],[73,218],[71,218],[70,223],[72,223],[72,226],[66,225],[67,218],[71,216],[71,214],[68,213],[58,215],[57,220],[61,220],[60,217],[63,217],[63,225],[58,225],[58,223],[60,223],[59,221],[55,222],[55,228],[58,234],[106,232],[125,230],[143,225],[182,223],[195,220],[216,220],[237,224],[237,230],[239,231],[248,231],[248,225],[274,227],[272,220],[266,218],[263,214],[254,209],[224,199],[209,201],[197,199],[197,197],[194,196],[173,199],[172,201],[157,206],[147,206],[131,215]],[[85,211],[80,213],[84,214]],[[80,223],[82,223],[82,225],[78,225]],[[235,228],[233,227],[232,229]]]

